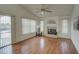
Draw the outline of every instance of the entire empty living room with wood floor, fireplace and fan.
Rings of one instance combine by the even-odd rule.
[[[79,53],[78,10],[78,4],[0,5],[0,54]]]

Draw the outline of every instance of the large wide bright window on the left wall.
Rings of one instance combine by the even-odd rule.
[[[36,31],[36,21],[22,18],[22,33],[29,34]]]

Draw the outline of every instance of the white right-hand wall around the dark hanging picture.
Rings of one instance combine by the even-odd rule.
[[[79,31],[76,31],[73,29],[73,21],[75,20],[74,18],[76,16],[79,16],[79,5],[75,5],[74,6],[74,9],[73,9],[73,12],[72,12],[72,19],[71,19],[71,38],[72,38],[72,41],[79,53]]]

